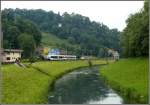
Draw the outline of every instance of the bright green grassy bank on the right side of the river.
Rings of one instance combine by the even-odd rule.
[[[122,59],[102,67],[100,74],[125,103],[148,103],[148,58]]]

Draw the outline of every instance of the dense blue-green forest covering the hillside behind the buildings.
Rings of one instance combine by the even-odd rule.
[[[64,13],[61,16],[59,13],[41,9],[5,9],[2,11],[2,28],[4,48],[23,46],[28,49],[27,45],[30,46],[31,43],[35,43],[33,47],[38,46],[42,38],[41,32],[47,32],[66,39],[72,45],[79,45],[72,48],[58,44],[58,47],[65,48],[68,52],[76,52],[76,55],[103,56],[104,48],[120,51],[120,32],[117,29],[109,29],[102,23],[74,13]],[[27,41],[30,44],[24,39],[30,39]]]

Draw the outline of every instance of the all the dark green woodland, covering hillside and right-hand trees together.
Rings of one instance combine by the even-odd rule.
[[[41,44],[42,33],[50,33],[68,44],[56,47],[81,55],[103,57],[107,48],[114,49],[126,57],[148,56],[149,20],[148,1],[141,11],[131,14],[126,20],[123,32],[109,29],[103,23],[91,21],[79,14],[60,15],[42,9],[2,10],[2,30],[4,48],[21,48],[24,56],[31,56]]]

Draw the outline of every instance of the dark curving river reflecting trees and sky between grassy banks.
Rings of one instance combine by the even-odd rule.
[[[122,104],[123,99],[99,76],[98,67],[83,68],[56,81],[49,104]]]

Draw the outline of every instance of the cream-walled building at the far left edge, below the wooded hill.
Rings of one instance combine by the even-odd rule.
[[[2,63],[13,63],[21,59],[23,50],[19,49],[4,49],[2,51]]]

